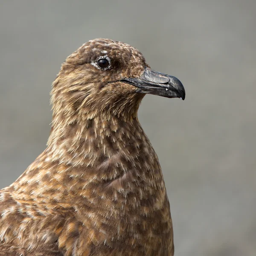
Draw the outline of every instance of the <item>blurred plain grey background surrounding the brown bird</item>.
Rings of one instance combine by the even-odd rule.
[[[44,150],[51,83],[93,38],[177,76],[186,100],[146,96],[140,122],[166,181],[175,256],[256,255],[256,1],[0,3],[0,187]]]

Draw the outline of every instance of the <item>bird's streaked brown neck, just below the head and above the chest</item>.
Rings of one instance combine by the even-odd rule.
[[[86,168],[96,167],[114,155],[128,157],[142,146],[151,148],[137,115],[100,115],[52,122],[47,146],[51,160]]]

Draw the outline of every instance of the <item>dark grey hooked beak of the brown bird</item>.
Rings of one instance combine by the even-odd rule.
[[[185,99],[185,89],[179,79],[154,71],[149,67],[145,67],[140,78],[125,78],[121,81],[138,87],[136,90],[138,93]]]

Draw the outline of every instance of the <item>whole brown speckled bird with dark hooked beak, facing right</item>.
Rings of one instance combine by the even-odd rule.
[[[146,93],[185,98],[134,47],[81,46],[52,84],[47,148],[0,190],[0,255],[172,256],[157,155],[137,111]]]

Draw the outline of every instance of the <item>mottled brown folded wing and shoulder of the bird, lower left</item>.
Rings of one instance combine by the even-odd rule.
[[[11,187],[0,190],[0,256],[62,256],[79,227],[71,209],[17,200]]]

